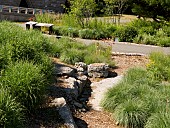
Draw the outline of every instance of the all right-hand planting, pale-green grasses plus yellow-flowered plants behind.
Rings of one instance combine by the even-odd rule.
[[[101,105],[120,125],[127,128],[170,127],[169,59],[170,56],[162,53],[152,53],[147,69],[129,69],[123,80],[108,90]]]

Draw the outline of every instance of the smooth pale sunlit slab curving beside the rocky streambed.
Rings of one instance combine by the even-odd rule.
[[[109,88],[115,86],[118,82],[120,82],[122,78],[123,76],[120,75],[114,78],[103,79],[99,82],[94,82],[91,84],[93,92],[92,97],[89,100],[89,104],[91,105],[92,109],[97,111],[102,110],[102,108],[100,107],[100,102],[104,98],[104,94]]]

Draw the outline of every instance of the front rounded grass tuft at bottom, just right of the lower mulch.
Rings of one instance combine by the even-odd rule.
[[[116,107],[115,119],[126,128],[143,128],[148,118],[148,107],[142,101],[127,100]]]

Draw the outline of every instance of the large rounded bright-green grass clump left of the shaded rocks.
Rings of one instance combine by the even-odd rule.
[[[1,78],[3,86],[10,90],[22,105],[31,110],[38,105],[46,86],[40,67],[30,62],[10,64]]]

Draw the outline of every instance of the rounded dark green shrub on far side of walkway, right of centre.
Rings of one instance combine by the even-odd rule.
[[[137,36],[137,30],[132,26],[118,27],[114,35],[122,42],[133,42],[133,39]]]

